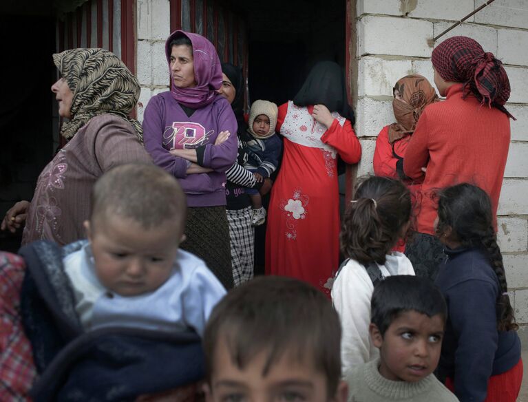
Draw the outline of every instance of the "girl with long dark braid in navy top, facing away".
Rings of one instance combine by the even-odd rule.
[[[461,401],[514,402],[522,381],[520,340],[492,203],[463,183],[443,189],[438,205],[436,236],[447,260],[436,284],[449,310],[440,377]]]

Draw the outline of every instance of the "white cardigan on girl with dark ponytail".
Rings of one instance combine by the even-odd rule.
[[[414,275],[412,264],[405,255],[387,255],[385,265],[379,265],[383,277]],[[379,352],[370,342],[370,299],[374,285],[365,266],[350,259],[341,269],[332,286],[334,304],[343,327],[341,364],[345,375],[351,368],[378,357]]]

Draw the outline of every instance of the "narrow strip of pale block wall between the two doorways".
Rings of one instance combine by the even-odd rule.
[[[152,96],[169,89],[165,40],[171,32],[169,0],[138,0],[137,76],[141,85],[138,120]]]

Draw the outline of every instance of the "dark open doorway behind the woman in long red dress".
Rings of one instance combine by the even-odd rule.
[[[346,63],[346,0],[229,1],[247,23],[250,103],[293,99],[317,61]],[[344,183],[344,180],[340,180]],[[340,192],[343,193],[344,185]],[[264,198],[267,208],[269,197]],[[265,225],[255,231],[255,275],[264,273]]]

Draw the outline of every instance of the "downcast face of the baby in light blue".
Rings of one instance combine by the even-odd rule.
[[[145,229],[129,218],[85,222],[96,275],[108,290],[136,296],[159,288],[171,276],[180,230],[175,224]]]

